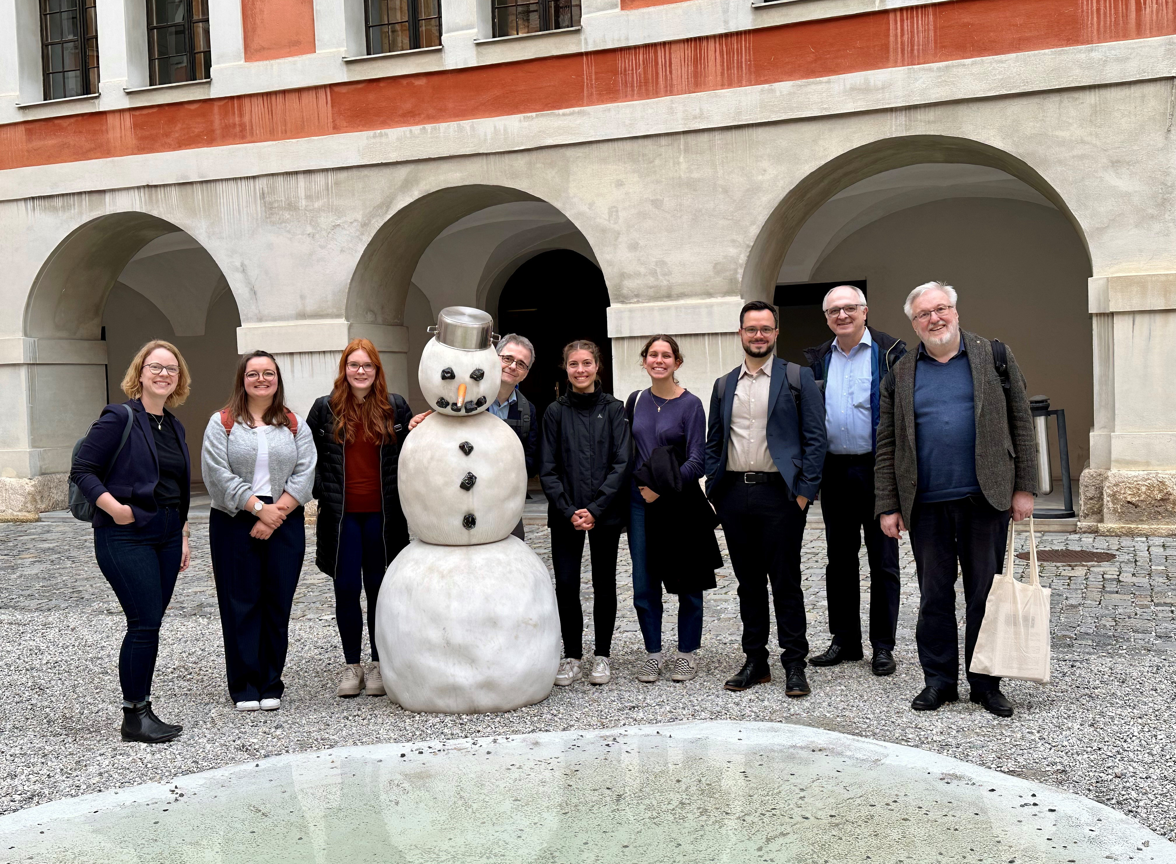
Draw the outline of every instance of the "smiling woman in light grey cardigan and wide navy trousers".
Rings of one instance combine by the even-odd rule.
[[[208,420],[201,451],[225,668],[239,711],[281,708],[315,460],[310,430],[286,408],[273,355],[241,357],[233,396]]]

